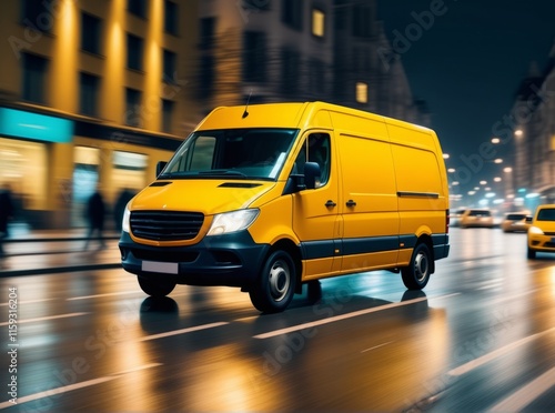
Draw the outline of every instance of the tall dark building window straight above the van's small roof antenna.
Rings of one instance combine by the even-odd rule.
[[[243,80],[246,82],[265,82],[268,60],[265,33],[246,31],[243,41]]]

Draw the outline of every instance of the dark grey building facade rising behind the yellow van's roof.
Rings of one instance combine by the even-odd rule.
[[[200,4],[199,102],[323,100],[430,125],[376,0],[209,0]]]

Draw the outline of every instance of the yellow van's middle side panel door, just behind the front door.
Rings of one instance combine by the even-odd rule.
[[[342,271],[395,265],[400,220],[391,144],[380,138],[337,138],[344,225]]]

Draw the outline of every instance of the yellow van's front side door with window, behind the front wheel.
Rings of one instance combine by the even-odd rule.
[[[321,175],[315,189],[293,194],[293,230],[301,240],[303,280],[332,275],[340,271],[336,259],[341,226],[337,222],[339,177],[334,144],[327,132],[306,133],[292,173],[303,174],[306,162],[316,162]]]

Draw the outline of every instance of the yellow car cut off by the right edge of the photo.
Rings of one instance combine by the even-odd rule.
[[[536,252],[555,252],[555,204],[539,205],[528,229],[528,259]]]

